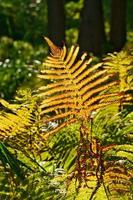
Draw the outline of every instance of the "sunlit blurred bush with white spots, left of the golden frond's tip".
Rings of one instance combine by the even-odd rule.
[[[30,86],[46,51],[8,37],[2,37],[0,44],[0,96],[9,99],[18,87]]]

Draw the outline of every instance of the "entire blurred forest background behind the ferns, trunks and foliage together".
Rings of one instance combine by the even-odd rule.
[[[38,84],[44,35],[98,57],[132,48],[132,10],[131,0],[0,0],[0,96]]]

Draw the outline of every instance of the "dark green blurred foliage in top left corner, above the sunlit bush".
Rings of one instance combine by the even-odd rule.
[[[42,42],[47,32],[46,0],[0,0],[0,35]]]

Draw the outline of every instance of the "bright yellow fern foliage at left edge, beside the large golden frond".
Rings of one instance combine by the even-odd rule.
[[[36,99],[31,93],[25,96],[22,92],[16,97],[15,103],[1,100],[1,105],[0,140],[26,156],[37,155],[44,143],[39,131],[40,114],[36,110]]]

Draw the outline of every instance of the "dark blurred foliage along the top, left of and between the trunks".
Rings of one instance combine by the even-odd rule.
[[[103,1],[106,31],[109,31],[111,0]],[[66,0],[66,35],[67,41],[77,39],[80,23],[80,11],[83,0]],[[127,30],[131,38],[133,2],[127,0]],[[6,35],[15,40],[27,40],[33,44],[42,43],[42,36],[47,35],[46,0],[0,0],[0,36]],[[72,31],[73,30],[73,31]],[[70,32],[70,34],[69,34]]]

